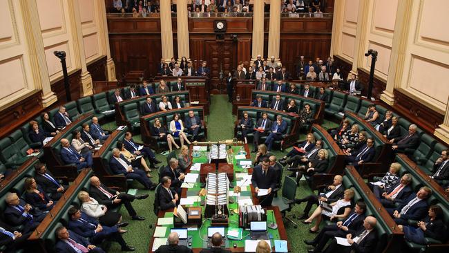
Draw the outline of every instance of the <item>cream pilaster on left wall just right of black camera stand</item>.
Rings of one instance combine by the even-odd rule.
[[[93,82],[90,73],[87,71],[86,54],[84,53],[83,30],[81,17],[79,15],[79,0],[68,1],[70,10],[70,27],[72,28],[73,51],[77,67],[81,68],[81,97],[93,94]]]

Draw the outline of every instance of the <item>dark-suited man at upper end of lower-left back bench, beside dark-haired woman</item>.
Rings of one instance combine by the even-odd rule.
[[[59,180],[54,178],[50,171],[47,171],[46,166],[38,162],[35,165],[35,180],[37,185],[42,187],[42,190],[52,199],[59,200],[68,185],[63,185]]]

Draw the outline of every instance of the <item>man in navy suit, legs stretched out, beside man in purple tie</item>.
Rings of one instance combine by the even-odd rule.
[[[93,244],[101,244],[104,240],[115,241],[122,246],[122,251],[135,251],[135,247],[126,244],[119,226],[107,227],[100,225],[96,218],[86,215],[81,212],[78,207],[70,207],[68,209],[68,229],[75,232],[77,235],[88,240]]]

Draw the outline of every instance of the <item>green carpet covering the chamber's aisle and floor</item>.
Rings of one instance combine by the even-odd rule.
[[[233,138],[233,125],[236,120],[235,116],[232,115],[232,106],[229,102],[227,102],[227,95],[212,95],[211,96],[211,106],[210,106],[210,115],[207,116],[207,127],[208,127],[208,137],[209,140],[225,140]],[[323,123],[323,127],[325,129],[337,127],[334,122],[329,122],[325,120]],[[105,124],[105,129],[115,129],[115,122]],[[140,135],[134,135],[134,139],[136,141],[140,141]],[[305,135],[300,135],[299,140],[304,140]],[[250,149],[252,149],[252,144],[250,144]],[[287,149],[289,151],[290,149]],[[285,153],[287,153],[285,151]],[[280,151],[272,151],[278,158],[285,155],[285,153]],[[251,153],[251,157],[254,159],[254,153]],[[157,158],[165,163],[165,156],[157,154]],[[286,176],[289,172],[284,171],[284,175]],[[153,182],[157,181],[157,171],[153,171]],[[146,217],[145,221],[132,221],[131,217],[126,212],[126,209],[122,207],[120,212],[123,215],[123,221],[129,222],[128,227],[126,229],[128,232],[124,234],[125,241],[136,248],[136,252],[148,252],[149,250],[149,241],[151,238],[151,234],[153,234],[156,216],[153,214],[153,202],[154,202],[154,191],[146,191],[142,189],[142,186],[137,182],[134,182],[130,188],[137,188],[137,194],[150,194],[150,197],[146,200],[135,200],[133,202],[133,207],[137,211],[137,214],[140,216]],[[311,194],[311,190],[307,186],[305,181],[300,182],[300,186],[296,191],[296,198],[303,198]],[[305,207],[305,203],[301,205],[296,205],[292,212],[289,214],[294,214],[296,216],[300,216],[303,214],[303,209]],[[312,214],[313,212],[310,212]],[[311,225],[303,225],[296,218],[294,221],[297,221],[298,228],[294,228],[292,223],[288,221],[285,222],[285,228],[287,230],[288,243],[292,249],[292,252],[306,252],[307,245],[303,243],[303,240],[311,240],[314,238],[314,234],[310,234],[307,231],[307,228],[312,227]],[[150,228],[152,226],[152,228]],[[109,247],[108,252],[120,252],[120,245],[117,243],[112,243],[111,247]]]

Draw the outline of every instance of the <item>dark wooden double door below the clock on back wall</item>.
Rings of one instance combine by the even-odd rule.
[[[212,94],[226,93],[226,77],[236,66],[237,45],[233,41],[206,41],[207,66],[211,69],[210,87]],[[220,81],[220,69],[223,80]]]

